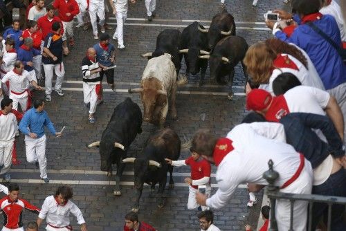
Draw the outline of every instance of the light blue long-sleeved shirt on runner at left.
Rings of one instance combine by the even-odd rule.
[[[44,136],[44,126],[55,135],[55,128],[51,120],[48,118],[46,111],[37,112],[35,108],[32,108],[26,111],[21,119],[19,130],[26,135],[29,135],[30,132],[35,133],[37,138],[41,138]]]

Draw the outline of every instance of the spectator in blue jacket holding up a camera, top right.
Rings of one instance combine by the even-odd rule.
[[[338,24],[331,15],[322,15],[319,12],[320,0],[295,0],[291,6],[297,12],[294,17],[283,10],[274,11],[279,13],[281,19],[293,18],[299,24],[291,35],[285,33],[284,28],[278,27],[279,24],[274,24],[273,21],[266,21],[266,24],[269,28],[273,28],[275,37],[293,43],[307,52],[325,89],[336,98],[346,118],[346,64],[343,63],[336,48],[309,26],[313,24],[319,28],[341,48]],[[344,133],[346,134],[346,131]]]

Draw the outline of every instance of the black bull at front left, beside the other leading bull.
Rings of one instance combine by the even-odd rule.
[[[130,98],[126,98],[114,109],[111,120],[102,132],[101,140],[88,147],[99,147],[101,170],[111,176],[112,164],[117,165],[114,195],[120,195],[120,177],[125,165],[121,162],[127,156],[129,145],[142,133],[142,112]]]

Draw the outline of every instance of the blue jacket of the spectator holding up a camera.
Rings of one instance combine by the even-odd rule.
[[[313,24],[341,47],[340,30],[334,17],[323,15],[321,19],[313,21]],[[305,50],[316,67],[326,90],[334,89],[346,82],[346,65],[343,64],[336,49],[307,24],[301,24],[295,28],[291,37],[287,37],[282,31],[277,31],[275,37],[291,42]]]

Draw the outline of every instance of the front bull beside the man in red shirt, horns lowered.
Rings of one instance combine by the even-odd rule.
[[[163,191],[167,181],[167,172],[170,172],[170,187],[174,187],[172,177],[173,167],[167,165],[165,158],[177,160],[180,156],[181,140],[172,129],[161,129],[149,138],[144,154],[140,158],[126,158],[124,163],[134,163],[134,187],[136,202],[132,211],[139,210],[139,200],[143,191],[143,184],[151,185],[152,191],[156,183],[158,187],[158,207],[165,205]]]

